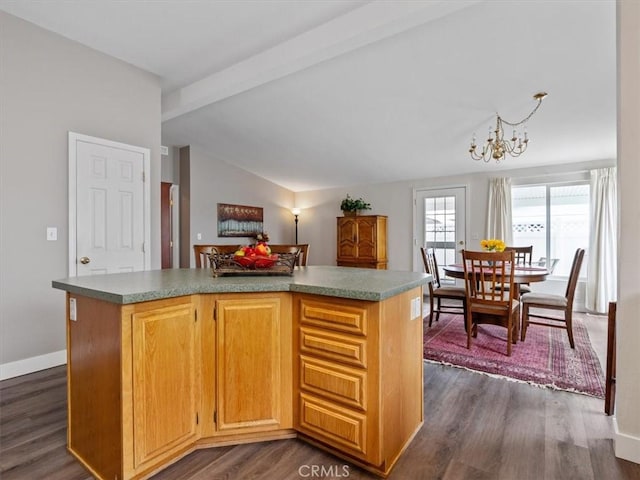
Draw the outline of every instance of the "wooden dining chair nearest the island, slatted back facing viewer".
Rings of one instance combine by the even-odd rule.
[[[518,338],[520,302],[513,298],[515,252],[462,251],[467,298],[467,348],[477,337],[478,325],[499,325],[507,329],[507,356]],[[509,288],[496,288],[504,285]]]

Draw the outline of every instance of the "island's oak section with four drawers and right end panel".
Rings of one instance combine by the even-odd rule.
[[[417,288],[383,302],[294,295],[294,418],[301,437],[387,475],[420,428]]]

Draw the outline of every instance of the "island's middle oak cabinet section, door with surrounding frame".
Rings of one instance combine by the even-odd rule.
[[[290,294],[201,295],[200,305],[199,444],[294,437]]]

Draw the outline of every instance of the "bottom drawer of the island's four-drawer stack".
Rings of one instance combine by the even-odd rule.
[[[303,393],[300,395],[299,429],[345,453],[359,457],[367,454],[364,414]]]

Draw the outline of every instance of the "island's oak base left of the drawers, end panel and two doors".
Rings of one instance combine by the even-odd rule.
[[[296,436],[289,293],[68,296],[69,450],[96,478],[145,478],[198,446]]]

